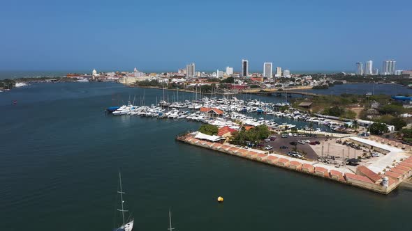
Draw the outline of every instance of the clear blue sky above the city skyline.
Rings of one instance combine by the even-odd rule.
[[[412,1],[0,3],[0,70],[412,69]]]

